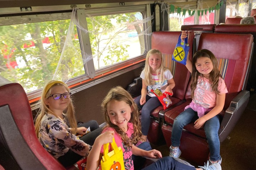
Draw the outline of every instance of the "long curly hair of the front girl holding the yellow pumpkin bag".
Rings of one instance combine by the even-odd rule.
[[[129,104],[129,106],[131,108],[133,107],[133,112],[131,113],[131,118],[129,120],[129,122],[133,124],[132,139],[128,138],[126,133],[121,128],[119,128],[117,125],[114,125],[113,123],[111,123],[110,118],[107,113],[107,104],[111,100],[123,101],[123,102],[126,102],[127,104]],[[141,124],[139,121],[138,107],[137,107],[137,104],[134,103],[132,96],[126,90],[124,90],[123,87],[121,87],[121,86],[113,87],[108,92],[106,97],[103,99],[103,101],[101,103],[101,107],[103,109],[105,120],[107,123],[107,125],[104,127],[104,129],[107,127],[113,128],[114,131],[119,136],[121,136],[124,145],[126,145],[129,148],[132,147],[132,144],[135,145],[140,140],[140,138],[142,136],[142,131],[141,131]]]

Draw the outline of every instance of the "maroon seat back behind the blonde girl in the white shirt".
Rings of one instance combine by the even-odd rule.
[[[175,87],[172,89],[174,95],[172,97],[178,98],[180,100],[185,100],[185,94],[190,78],[190,72],[186,69],[186,66],[175,61],[172,61],[172,54],[174,52],[175,46],[178,42],[178,37],[181,32],[170,32],[170,31],[158,31],[152,34],[151,49],[158,49],[162,52],[165,67],[171,69],[172,75],[174,76]],[[192,58],[193,55],[193,39],[194,32],[188,33],[188,44],[190,45],[189,57]],[[182,74],[181,74],[182,73]],[[181,85],[182,84],[182,85]]]

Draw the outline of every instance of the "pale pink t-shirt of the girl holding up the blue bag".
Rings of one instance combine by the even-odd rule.
[[[219,94],[227,93],[225,81],[219,78]],[[193,102],[203,108],[213,108],[216,106],[216,93],[212,90],[209,80],[204,77],[198,77],[197,87],[194,91]]]

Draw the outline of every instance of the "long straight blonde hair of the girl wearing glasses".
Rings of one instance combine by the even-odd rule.
[[[41,99],[39,100],[38,104],[40,104],[39,114],[36,118],[35,123],[35,129],[36,129],[36,135],[39,137],[39,130],[41,127],[41,121],[47,113],[53,114],[55,117],[58,117],[46,104],[46,99],[50,96],[51,89],[55,86],[64,86],[65,89],[69,92],[69,87],[63,83],[62,81],[56,81],[52,80],[49,81],[43,88]],[[75,108],[73,105],[72,98],[70,97],[70,102],[68,107],[63,111],[65,115],[67,116],[67,119],[69,121],[70,131],[72,134],[76,134],[77,132],[77,124],[76,124],[76,118],[75,118]]]

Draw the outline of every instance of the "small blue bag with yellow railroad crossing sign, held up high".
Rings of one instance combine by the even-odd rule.
[[[185,43],[184,43],[184,42],[181,42],[181,35],[179,36],[178,43],[174,49],[174,53],[172,54],[172,60],[186,65],[188,50],[190,48],[187,42],[188,42],[188,38],[185,38]]]

